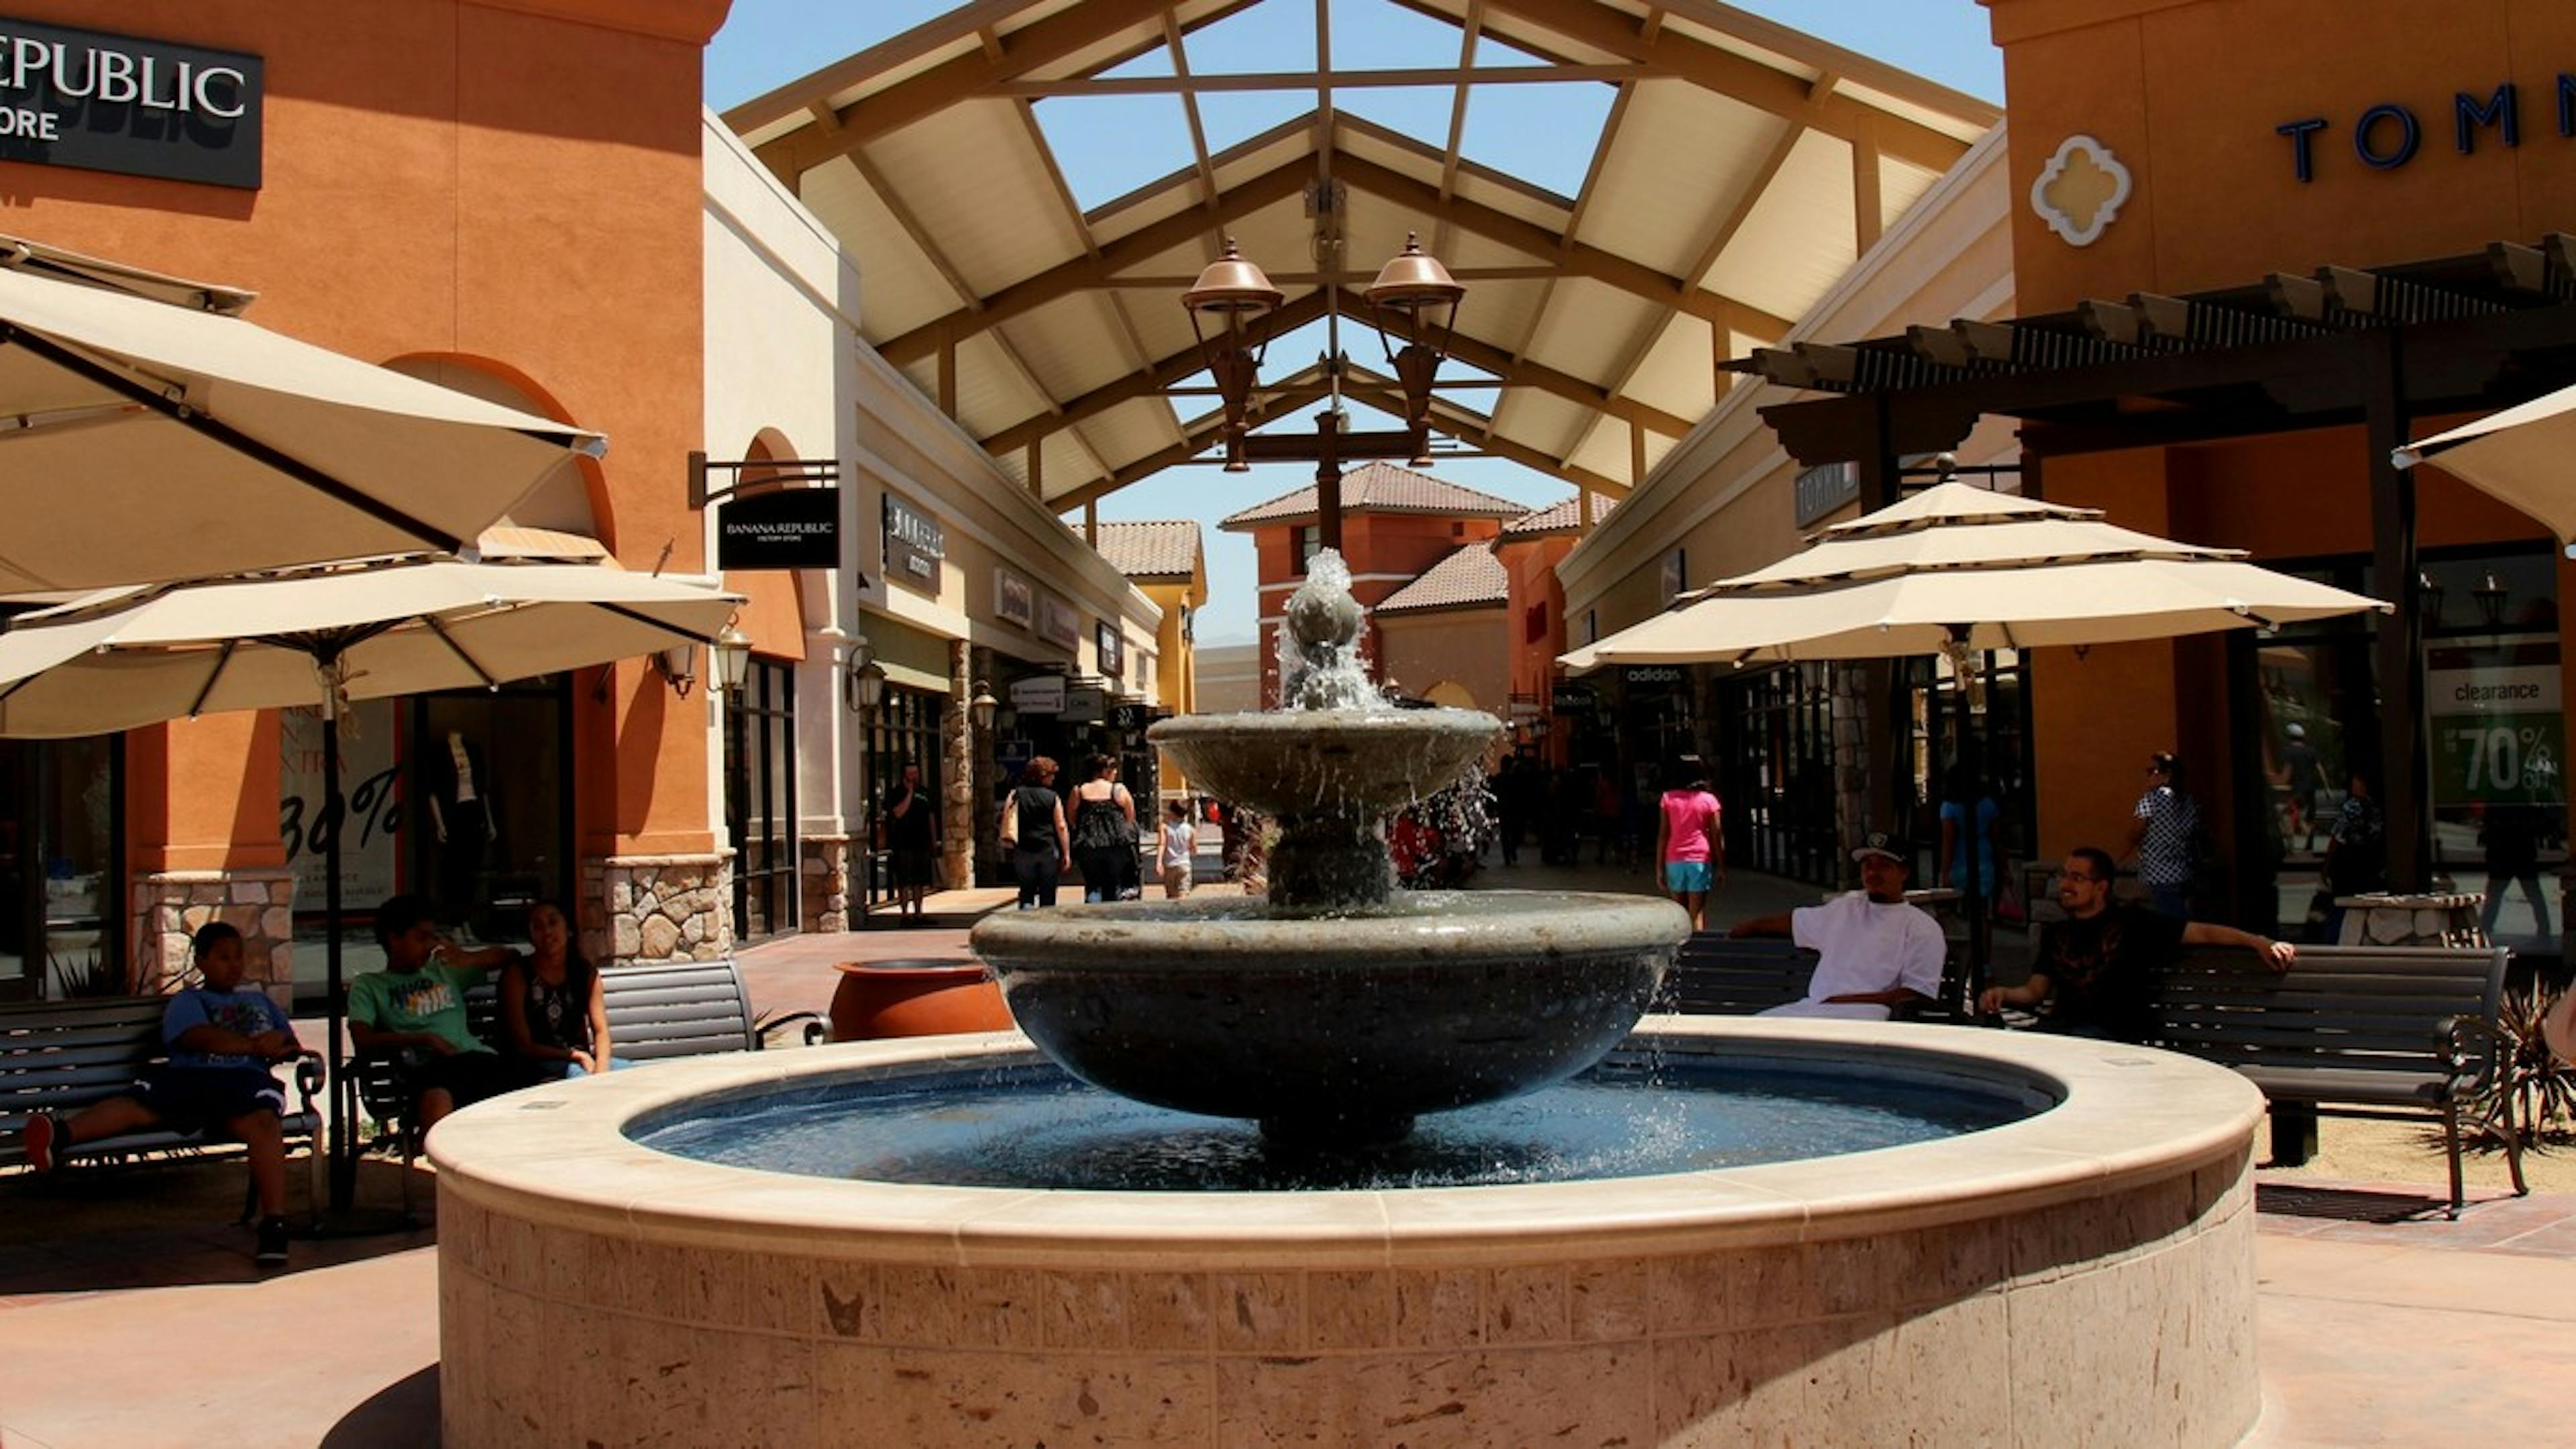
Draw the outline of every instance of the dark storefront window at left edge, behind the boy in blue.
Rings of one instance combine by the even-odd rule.
[[[0,740],[0,1000],[126,990],[118,745]]]

